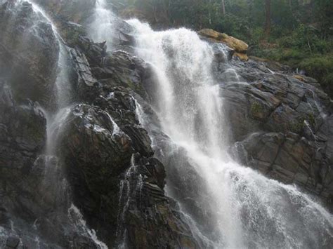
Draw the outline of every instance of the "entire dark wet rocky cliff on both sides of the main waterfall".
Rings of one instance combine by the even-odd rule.
[[[0,6],[0,247],[202,247],[165,194],[166,161],[138,116],[143,108],[162,147],[150,107],[155,77],[133,51],[131,26],[115,19],[110,51],[86,34],[94,0],[36,3],[53,25],[27,1]],[[61,46],[72,97],[50,156]],[[332,101],[318,82],[258,58],[217,50],[215,58],[230,153],[332,210]]]

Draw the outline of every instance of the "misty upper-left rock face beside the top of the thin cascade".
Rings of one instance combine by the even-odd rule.
[[[1,76],[10,79],[18,100],[49,107],[57,76],[59,45],[53,28],[27,2],[0,6]]]

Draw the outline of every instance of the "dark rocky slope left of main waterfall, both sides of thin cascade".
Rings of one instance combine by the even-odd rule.
[[[1,74],[1,113],[5,114],[1,116],[4,131],[0,156],[1,245],[35,248],[43,243],[63,248],[98,247],[88,238],[89,234],[77,228],[77,220],[68,219],[68,215],[72,216],[70,210],[74,210],[68,201],[73,201],[89,227],[96,229],[110,247],[122,243],[124,236],[129,237],[130,245],[138,248],[195,247],[197,243],[182,222],[176,204],[164,195],[164,166],[152,157],[150,137],[136,117],[132,93],[135,90],[146,96],[142,82],[150,77],[147,65],[124,51],[106,53],[103,44],[86,38],[84,27],[56,16],[60,20],[56,22],[58,30],[68,45],[75,104],[67,107],[67,121],[63,133],[58,135],[57,154],[61,156],[58,159],[41,156],[46,146],[46,117],[41,110],[49,107],[44,95],[50,99],[55,97],[55,91],[48,92],[46,87],[39,94],[37,89],[44,87],[46,79],[23,79],[39,75],[39,69],[48,76],[48,70],[56,69],[59,50],[54,41],[56,34],[43,18],[38,21],[43,34],[30,32],[30,27],[22,27],[23,34],[11,33],[20,25],[30,25],[35,16],[37,13],[27,2],[16,6],[5,3],[0,9],[1,25],[6,25],[6,29],[1,27],[0,53],[13,58],[7,60],[8,56],[1,56],[1,69],[10,72],[8,76]],[[119,23],[124,22],[119,20]],[[23,35],[36,38],[34,47],[39,49],[44,44],[52,45],[46,39],[53,39],[56,46],[46,51],[54,53],[30,51],[28,55],[34,57],[29,57],[20,52],[20,44],[12,43],[9,33],[15,41],[22,40]],[[25,60],[18,60],[16,53]],[[44,58],[54,62],[39,62]],[[37,69],[29,66],[32,64]],[[20,71],[20,67],[27,72]],[[20,72],[20,81],[12,79],[15,72]],[[55,84],[54,77],[48,84]],[[22,86],[30,91],[20,89]],[[24,95],[13,97],[11,90]],[[51,167],[61,166],[59,174],[66,175],[70,189],[60,194],[70,192],[69,200],[59,200],[59,196],[46,198],[50,192],[44,185],[46,160],[54,161]],[[51,224],[57,233],[51,230]]]

